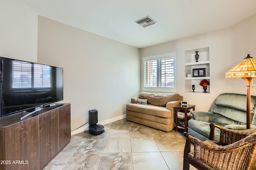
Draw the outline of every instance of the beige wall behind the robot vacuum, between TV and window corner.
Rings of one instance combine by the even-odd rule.
[[[38,62],[64,68],[64,101],[71,129],[98,110],[98,122],[126,114],[140,90],[139,49],[38,17]]]

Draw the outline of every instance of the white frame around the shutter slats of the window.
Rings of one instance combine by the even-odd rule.
[[[174,71],[174,87],[159,87],[159,75],[158,75],[158,65],[157,65],[157,82],[156,87],[145,87],[145,61],[151,61],[151,60],[159,60],[159,59],[165,59],[173,57],[174,65],[173,65],[173,71]],[[142,91],[162,91],[162,92],[176,92],[176,52],[172,53],[165,53],[161,55],[154,55],[150,57],[143,57],[142,58]]]

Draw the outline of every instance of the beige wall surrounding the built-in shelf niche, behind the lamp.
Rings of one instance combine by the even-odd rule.
[[[200,27],[200,24],[198,24]],[[246,94],[244,81],[240,78],[226,79],[225,72],[240,62],[247,54],[256,58],[256,15],[230,27],[206,34],[200,34],[173,42],[141,49],[142,57],[176,52],[177,92],[184,96],[196,110],[208,111],[211,103],[220,93]],[[210,47],[210,93],[185,92],[185,51]],[[200,60],[200,59],[199,59]],[[252,95],[256,95],[252,87]]]

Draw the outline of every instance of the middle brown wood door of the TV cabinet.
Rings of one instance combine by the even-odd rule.
[[[58,109],[39,115],[40,168],[58,153]]]

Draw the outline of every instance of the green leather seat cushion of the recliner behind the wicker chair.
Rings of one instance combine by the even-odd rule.
[[[188,127],[190,127],[192,130],[198,132],[199,134],[205,136],[206,138],[209,138],[210,123],[190,119],[188,121]],[[188,133],[189,133],[189,131],[188,131]],[[199,138],[199,136],[197,136],[197,135],[195,135],[194,137]],[[199,138],[199,139],[204,140],[201,138]],[[216,140],[216,141],[220,140],[220,129],[218,129],[218,128],[215,128],[215,130],[214,130],[214,140]]]

